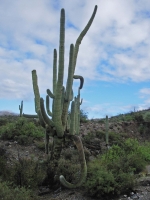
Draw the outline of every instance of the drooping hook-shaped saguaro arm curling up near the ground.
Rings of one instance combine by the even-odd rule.
[[[77,184],[71,184],[71,183],[66,181],[66,179],[64,178],[63,175],[61,175],[59,177],[60,182],[66,188],[80,187],[83,184],[83,182],[85,181],[86,176],[87,176],[87,166],[86,166],[86,160],[85,160],[85,154],[84,154],[82,141],[79,138],[79,136],[74,135],[72,137],[73,137],[73,141],[75,142],[75,145],[76,145],[78,152],[79,152],[79,158],[80,158],[80,164],[81,164],[81,176],[80,176],[80,179],[79,179]]]

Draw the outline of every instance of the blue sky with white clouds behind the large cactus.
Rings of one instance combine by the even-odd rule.
[[[97,13],[75,69],[84,77],[81,109],[94,119],[150,107],[149,0],[0,0],[0,111],[19,113],[23,100],[23,112],[35,114],[33,69],[41,97],[52,89],[62,8],[66,84],[70,44],[75,44],[95,5]],[[73,86],[75,95],[78,84]]]

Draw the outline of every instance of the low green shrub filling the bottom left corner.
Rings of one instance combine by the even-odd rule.
[[[3,200],[38,200],[32,191],[24,187],[13,187],[10,182],[0,182],[0,199]]]

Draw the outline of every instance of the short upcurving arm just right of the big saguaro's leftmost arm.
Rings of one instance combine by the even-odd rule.
[[[50,126],[50,127],[54,127],[54,122],[47,116],[45,108],[44,108],[44,100],[43,98],[40,98],[40,106],[41,106],[41,115],[44,119],[44,122]]]

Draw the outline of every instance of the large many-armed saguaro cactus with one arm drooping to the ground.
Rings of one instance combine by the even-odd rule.
[[[44,100],[40,97],[40,92],[38,88],[38,78],[36,70],[32,71],[32,82],[33,90],[35,95],[35,110],[37,117],[41,125],[46,131],[46,152],[48,153],[48,141],[49,136],[53,137],[53,148],[51,159],[57,161],[60,157],[62,144],[65,138],[73,140],[80,158],[81,164],[81,176],[77,184],[71,184],[67,182],[64,176],[60,176],[60,182],[68,187],[75,188],[79,187],[86,178],[87,166],[84,155],[84,149],[82,141],[79,137],[79,127],[80,127],[80,90],[83,87],[84,79],[80,75],[75,75],[75,66],[77,62],[77,55],[79,51],[79,46],[88,29],[90,28],[93,19],[97,11],[97,6],[95,6],[93,14],[76,40],[75,46],[70,45],[69,52],[69,66],[68,66],[68,78],[66,82],[66,87],[63,86],[64,82],[64,50],[65,50],[65,10],[61,10],[60,17],[60,39],[59,39],[59,59],[57,62],[57,51],[54,49],[53,57],[53,91],[47,89],[46,97],[46,110],[44,106]],[[58,63],[58,67],[57,67]],[[73,97],[73,80],[78,79],[80,85],[78,88],[78,95]],[[49,108],[49,98],[53,99],[52,111]],[[68,114],[68,109],[71,103],[71,113]],[[46,113],[47,111],[47,113]],[[27,116],[27,115],[26,115]]]

